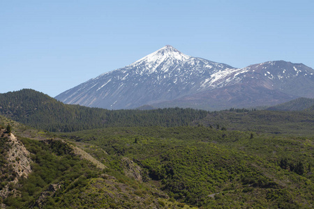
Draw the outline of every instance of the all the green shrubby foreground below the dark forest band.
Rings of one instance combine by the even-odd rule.
[[[0,116],[1,203],[8,208],[312,208],[313,137],[211,127],[107,127],[40,132]],[[1,133],[4,130],[1,130]],[[60,139],[59,137],[62,137]],[[86,155],[107,167],[98,169]],[[8,160],[8,153],[17,153]],[[17,169],[18,171],[18,169]],[[15,183],[12,180],[16,179]],[[1,191],[0,191],[1,193]],[[190,206],[186,205],[189,204]]]

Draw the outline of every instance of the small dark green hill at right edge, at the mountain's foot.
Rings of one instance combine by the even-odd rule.
[[[276,111],[302,111],[305,109],[310,109],[314,105],[314,99],[309,98],[297,98],[297,100],[292,100],[285,102],[283,104],[278,104],[274,107],[267,108],[268,110]]]

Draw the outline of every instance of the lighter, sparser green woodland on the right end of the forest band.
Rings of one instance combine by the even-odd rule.
[[[314,111],[214,111],[197,124],[227,130],[313,136]]]

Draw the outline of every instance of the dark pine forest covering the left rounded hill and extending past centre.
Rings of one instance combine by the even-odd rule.
[[[0,114],[52,132],[72,132],[99,127],[189,125],[207,111],[195,109],[107,110],[63,104],[48,95],[23,89],[0,94]]]

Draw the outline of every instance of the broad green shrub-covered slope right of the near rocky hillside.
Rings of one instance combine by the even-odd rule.
[[[147,181],[199,207],[311,208],[313,137],[280,137],[209,127],[125,127],[66,134],[144,168]],[[63,134],[63,137],[66,137]],[[94,150],[94,155],[99,156]],[[283,161],[295,168],[283,167]],[[121,171],[122,172],[122,171]]]

